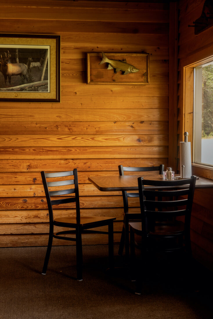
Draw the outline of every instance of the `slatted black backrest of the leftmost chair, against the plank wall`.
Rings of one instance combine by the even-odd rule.
[[[68,172],[45,173],[41,172],[44,191],[47,199],[49,210],[49,221],[53,222],[53,205],[75,203],[76,219],[80,221],[80,204],[79,204],[79,188],[78,188],[78,172],[77,168]],[[50,181],[49,181],[50,179]],[[54,179],[52,182],[51,179]],[[48,180],[48,181],[47,181]],[[70,188],[73,185],[73,188]],[[62,186],[63,187],[62,189]],[[66,187],[67,186],[67,187]],[[51,190],[52,189],[52,190]],[[74,194],[72,197],[60,198],[61,195]],[[52,197],[57,196],[57,199]]]

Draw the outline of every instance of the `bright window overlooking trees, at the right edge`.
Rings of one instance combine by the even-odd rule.
[[[213,166],[213,61],[194,67],[193,162]]]

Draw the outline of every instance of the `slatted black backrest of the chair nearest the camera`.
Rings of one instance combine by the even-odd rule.
[[[185,216],[184,232],[190,235],[195,182],[196,176],[175,181],[152,181],[144,180],[143,177],[138,178],[144,238],[152,230],[153,220],[175,220],[177,216]]]

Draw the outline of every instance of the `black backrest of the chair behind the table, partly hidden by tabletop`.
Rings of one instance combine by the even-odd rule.
[[[150,166],[150,167],[124,167],[123,165],[118,166],[119,175],[123,176],[124,172],[153,172],[159,171],[159,174],[163,174],[164,165],[160,166]],[[129,193],[126,190],[122,191],[123,202],[124,202],[124,211],[128,211],[128,197],[139,197],[139,193]]]

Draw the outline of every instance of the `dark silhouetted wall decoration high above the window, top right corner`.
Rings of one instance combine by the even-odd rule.
[[[213,25],[213,1],[206,0],[203,5],[203,10],[201,16],[193,21],[193,26],[188,25],[188,27],[194,27],[194,34],[199,34],[203,30],[209,28]]]

